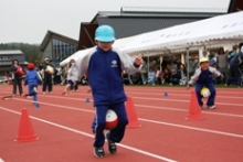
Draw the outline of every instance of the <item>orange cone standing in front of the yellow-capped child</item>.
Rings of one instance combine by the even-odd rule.
[[[186,119],[187,120],[204,119],[204,117],[201,114],[201,109],[199,108],[199,104],[198,104],[197,96],[196,96],[194,91],[191,91],[189,112],[188,112],[188,116]]]

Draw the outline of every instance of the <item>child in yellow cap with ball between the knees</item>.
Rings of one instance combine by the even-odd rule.
[[[194,72],[194,75],[191,77],[191,80],[188,83],[188,89],[192,86],[192,84],[196,83],[196,94],[198,98],[199,106],[202,108],[203,102],[202,102],[202,95],[201,95],[201,89],[203,87],[209,88],[210,90],[210,97],[208,98],[207,106],[209,109],[214,109],[214,100],[216,96],[216,90],[213,84],[213,75],[216,77],[223,75],[216,71],[214,67],[209,66],[209,60],[207,57],[202,57],[200,60],[200,67]]]

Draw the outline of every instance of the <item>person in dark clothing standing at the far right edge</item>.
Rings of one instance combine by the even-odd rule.
[[[242,87],[243,73],[241,71],[241,65],[243,64],[243,43],[239,44],[240,52],[234,55],[230,61],[230,78],[226,80],[226,86],[230,86],[231,79],[236,78],[236,84],[239,87]]]

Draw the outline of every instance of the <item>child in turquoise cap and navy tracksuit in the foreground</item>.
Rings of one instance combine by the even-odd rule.
[[[88,83],[94,98],[96,109],[96,128],[94,141],[94,155],[104,156],[105,137],[108,141],[108,150],[116,153],[116,143],[124,138],[126,126],[128,125],[122,72],[125,69],[133,75],[139,72],[142,64],[141,56],[131,58],[129,55],[112,47],[115,41],[115,31],[109,25],[101,25],[95,31],[97,46],[87,53],[78,55],[76,67],[70,72],[71,80],[80,80],[87,72]],[[113,109],[118,116],[118,125],[104,136],[106,114]]]

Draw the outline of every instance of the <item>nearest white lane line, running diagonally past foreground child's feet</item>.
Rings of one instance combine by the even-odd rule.
[[[11,110],[11,109],[8,109],[8,108],[0,107],[0,109],[9,111],[9,112],[12,112],[12,114],[15,114],[15,115],[21,115],[20,112]],[[94,138],[93,134],[86,133],[84,131],[80,131],[77,129],[65,127],[65,126],[62,126],[62,125],[59,125],[59,123],[55,123],[55,122],[52,122],[52,121],[47,121],[47,120],[44,120],[44,119],[41,119],[41,118],[33,117],[33,116],[29,116],[29,117],[31,119],[34,119],[34,120],[38,120],[38,121],[41,121],[41,122],[44,122],[44,123],[47,123],[47,125],[51,125],[51,126],[64,129],[64,130],[68,130],[71,132],[75,132],[75,133],[78,133],[78,134],[82,134],[82,136],[85,136],[85,137],[88,137],[88,138]],[[147,155],[147,156],[151,156],[151,158],[155,158],[155,159],[158,159],[158,160],[163,160],[166,162],[177,162],[177,161],[175,161],[172,159],[168,159],[166,156],[161,156],[161,155],[158,155],[158,154],[155,154],[155,153],[141,150],[141,149],[137,149],[137,148],[134,148],[134,147],[129,147],[129,145],[126,145],[126,144],[117,143],[117,145],[119,145],[120,148],[124,148],[124,149],[127,149],[127,150],[130,150],[130,151],[144,154],[144,155]]]

